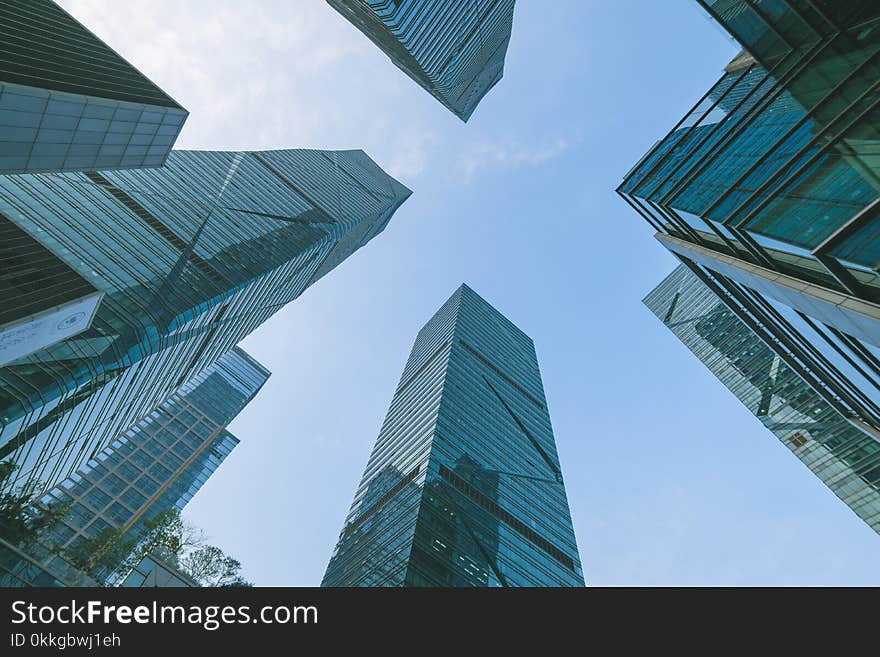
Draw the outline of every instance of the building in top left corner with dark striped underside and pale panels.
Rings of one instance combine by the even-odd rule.
[[[187,114],[52,0],[0,0],[0,174],[160,166]]]

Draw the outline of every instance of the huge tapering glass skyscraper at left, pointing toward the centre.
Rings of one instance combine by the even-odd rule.
[[[174,151],[160,169],[0,176],[5,221],[103,295],[88,329],[0,367],[12,483],[42,492],[75,472],[409,194],[362,151]]]

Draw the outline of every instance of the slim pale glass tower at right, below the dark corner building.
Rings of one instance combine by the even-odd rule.
[[[825,485],[880,532],[880,442],[685,265],[645,305]]]

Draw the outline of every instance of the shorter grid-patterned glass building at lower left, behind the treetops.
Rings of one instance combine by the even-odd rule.
[[[145,520],[182,510],[238,444],[226,426],[268,378],[237,347],[222,356],[43,496],[70,505],[44,540],[63,550],[110,528],[137,540]]]

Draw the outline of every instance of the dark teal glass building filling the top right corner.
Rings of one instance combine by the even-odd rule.
[[[702,4],[748,52],[618,191],[660,233],[880,309],[880,5]]]

